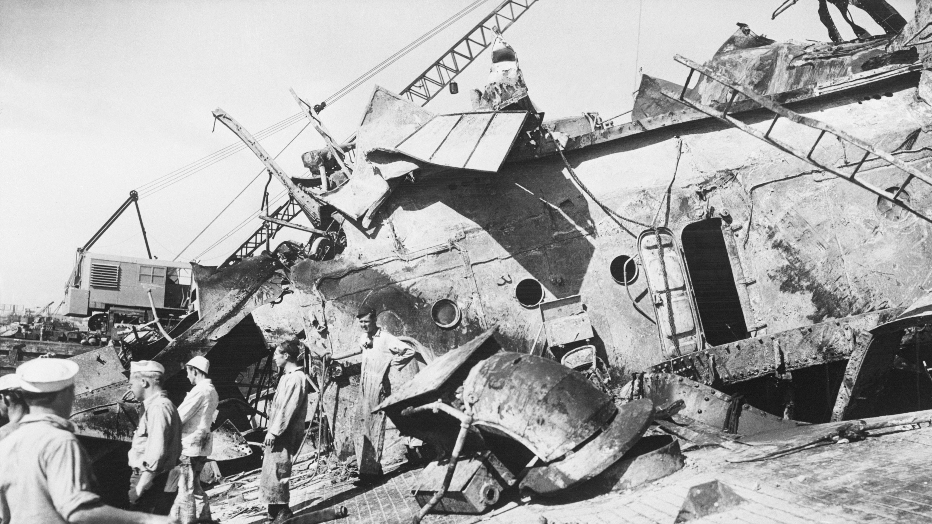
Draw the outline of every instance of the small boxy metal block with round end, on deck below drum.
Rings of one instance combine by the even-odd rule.
[[[431,499],[444,480],[446,465],[432,462],[420,473],[411,488],[418,504]],[[443,498],[433,506],[436,513],[484,513],[499,502],[502,490],[514,485],[514,475],[491,451],[472,453],[459,459]]]

